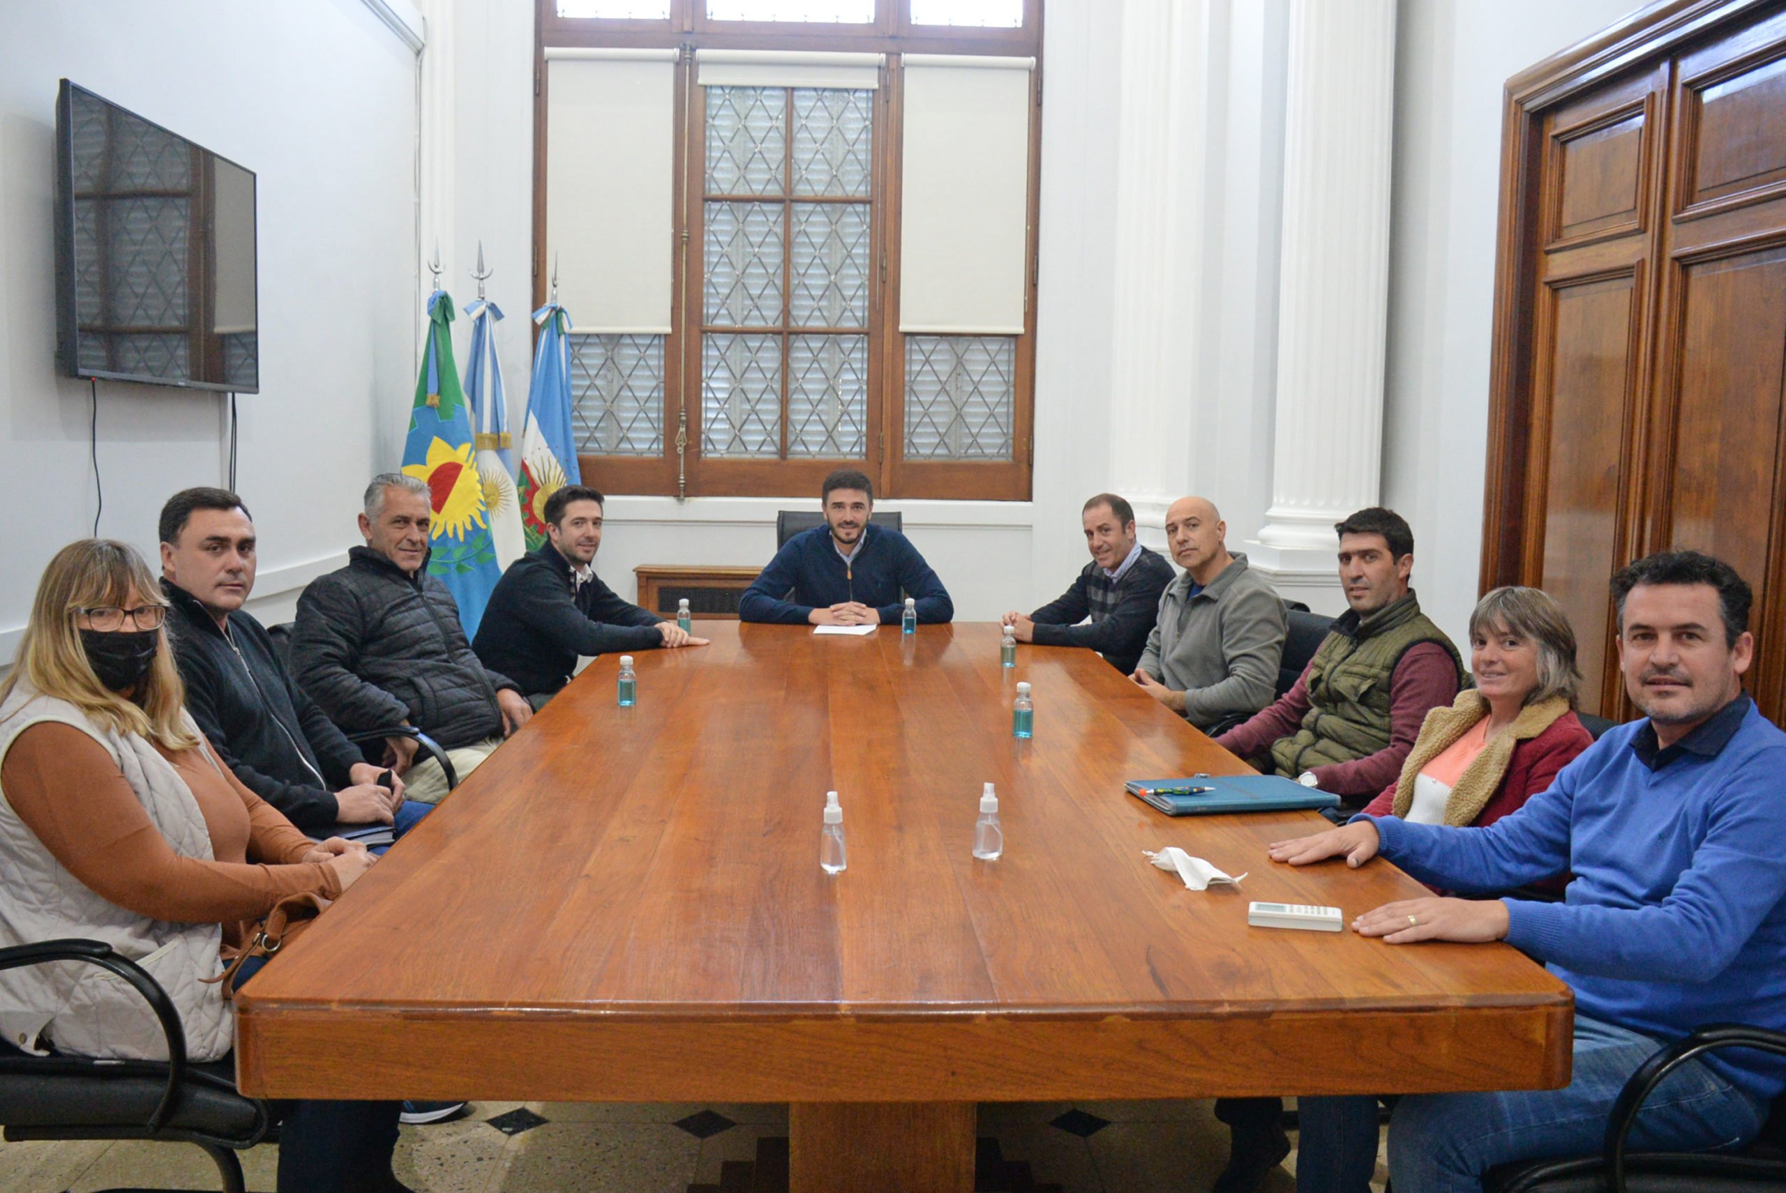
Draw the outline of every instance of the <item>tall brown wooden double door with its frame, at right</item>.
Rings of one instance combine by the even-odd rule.
[[[1590,713],[1634,714],[1607,580],[1711,552],[1786,704],[1786,5],[1665,0],[1513,79],[1482,588],[1568,611]]]

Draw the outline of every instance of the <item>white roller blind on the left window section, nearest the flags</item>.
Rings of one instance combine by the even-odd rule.
[[[675,50],[547,50],[547,259],[579,332],[668,334]]]

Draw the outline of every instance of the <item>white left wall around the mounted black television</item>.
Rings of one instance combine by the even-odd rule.
[[[523,5],[518,5],[523,7]],[[261,534],[255,609],[289,618],[359,541],[414,388],[416,59],[361,0],[0,0],[0,664],[43,564],[93,529],[89,391],[59,377],[55,89],[86,86],[259,175],[261,393],[238,489]],[[225,400],[100,382],[100,534],[155,548],[163,500],[225,479]]]

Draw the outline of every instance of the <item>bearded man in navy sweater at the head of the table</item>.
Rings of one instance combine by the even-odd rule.
[[[956,605],[918,548],[898,530],[870,527],[875,486],[854,468],[825,477],[825,525],[795,534],[745,589],[738,616],[784,625],[898,623],[906,600],[920,622],[948,622]],[[902,596],[904,593],[904,596]],[[788,600],[788,596],[793,600]]]

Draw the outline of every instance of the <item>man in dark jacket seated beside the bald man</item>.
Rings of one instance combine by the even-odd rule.
[[[1057,598],[1031,614],[1013,609],[1004,622],[1020,643],[1089,647],[1129,675],[1154,629],[1159,595],[1172,584],[1172,564],[1141,546],[1134,507],[1122,496],[1098,493],[1081,514],[1091,563]]]

